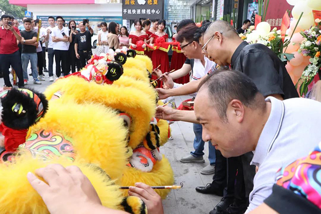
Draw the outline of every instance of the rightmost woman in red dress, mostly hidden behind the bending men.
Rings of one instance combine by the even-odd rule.
[[[177,34],[175,34],[173,36],[173,42],[176,41]],[[173,50],[173,56],[172,56],[172,61],[171,61],[171,71],[172,70],[179,70],[182,68],[182,66],[184,65],[185,61],[186,61],[186,56],[182,53],[182,49],[181,46],[173,46],[172,47]],[[185,75],[184,77],[180,77],[176,80],[174,80],[176,83],[179,84],[185,84],[190,82],[190,74]]]

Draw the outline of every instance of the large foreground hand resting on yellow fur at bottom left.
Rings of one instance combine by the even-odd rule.
[[[51,214],[83,213],[86,210],[101,206],[98,194],[77,166],[50,164],[28,172],[27,178],[32,187],[40,194]],[[79,210],[79,212],[77,211]]]

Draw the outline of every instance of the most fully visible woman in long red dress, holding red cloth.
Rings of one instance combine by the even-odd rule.
[[[158,30],[151,35],[150,44],[153,44],[154,51],[151,55],[151,61],[153,68],[157,68],[159,65],[159,70],[163,73],[170,71],[170,62],[168,52],[170,49],[169,44],[165,44],[168,42],[169,35],[164,32],[166,26],[165,20],[161,20],[158,22]],[[163,82],[158,82],[158,87],[163,87]]]

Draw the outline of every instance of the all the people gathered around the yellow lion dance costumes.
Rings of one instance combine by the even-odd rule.
[[[17,73],[19,87],[28,82],[29,61],[34,83],[40,84],[46,71],[46,41],[50,81],[54,80],[54,56],[59,77],[74,73],[76,67],[81,69],[92,55],[93,29],[88,23],[71,20],[68,29],[62,17],[49,17],[50,27],[40,30],[41,44],[36,33],[39,20],[24,19],[24,30],[10,16],[3,15],[2,22],[0,60],[8,87],[12,87],[10,66]],[[135,31],[130,33],[124,26],[103,22],[99,25],[98,46],[105,53],[127,47],[150,57],[155,78],[161,78],[156,89],[160,99],[196,97],[193,109],[158,106],[156,117],[193,123],[195,150],[180,159],[183,163],[204,163],[203,150],[209,143],[210,164],[201,173],[214,174],[213,182],[197,186],[196,191],[223,196],[213,210],[208,210],[210,214],[320,212],[320,177],[314,174],[321,165],[321,116],[317,113],[321,108],[321,83],[313,88],[311,99],[298,98],[284,63],[266,46],[241,40],[238,32],[249,25],[246,20],[236,31],[225,21],[206,21],[199,28],[192,20],[183,20],[177,25],[174,42],[169,43],[164,20],[135,20]],[[22,44],[21,54],[17,41]],[[171,45],[175,55],[170,65]],[[172,70],[175,72],[169,73]],[[315,161],[297,161],[310,151],[314,156],[309,158]],[[293,162],[296,165],[289,169],[292,176],[284,168],[278,171]],[[300,167],[307,163],[313,167],[302,171]],[[294,172],[301,175],[293,176]],[[51,213],[124,213],[102,207],[95,189],[77,167],[50,165],[36,173],[49,185],[32,173],[28,173],[28,179]],[[63,177],[69,177],[69,182],[65,183]],[[79,188],[79,183],[84,187]],[[161,198],[150,186],[137,183],[130,187],[129,194],[140,197],[149,213],[164,213]]]

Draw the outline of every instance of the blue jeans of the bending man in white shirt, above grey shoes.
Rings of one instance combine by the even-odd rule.
[[[193,146],[195,151],[192,151],[191,155],[195,157],[204,155],[203,150],[205,142],[202,139],[202,130],[203,128],[201,124],[193,123],[193,131],[195,133]],[[211,141],[209,141],[209,161],[211,165],[215,164],[216,161],[215,147],[212,145]]]

